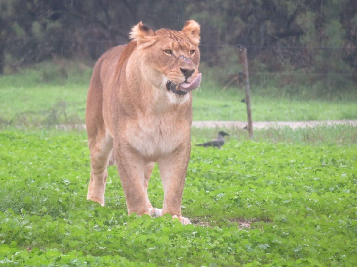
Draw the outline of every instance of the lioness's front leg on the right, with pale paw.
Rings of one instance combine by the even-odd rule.
[[[182,224],[191,224],[190,220],[181,215],[181,200],[183,185],[190,158],[190,145],[176,150],[170,155],[161,157],[159,164],[162,186],[164,188],[164,205],[161,215],[170,213],[172,218],[177,218]]]

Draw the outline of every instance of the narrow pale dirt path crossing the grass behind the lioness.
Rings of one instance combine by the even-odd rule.
[[[317,125],[333,125],[333,124],[348,124],[357,126],[357,120],[335,120],[335,121],[253,121],[253,129],[263,129],[269,127],[291,127],[296,129],[299,127],[314,127]],[[244,128],[247,125],[245,121],[193,121],[192,127],[196,128]],[[85,129],[84,124],[59,124],[56,129]]]

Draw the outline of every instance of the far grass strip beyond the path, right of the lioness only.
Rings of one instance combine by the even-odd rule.
[[[203,87],[203,86],[202,86]],[[242,92],[214,91],[205,95],[204,89],[193,97],[193,120],[245,121],[246,104]],[[253,121],[306,121],[357,119],[355,101],[291,100],[262,97],[251,92]]]

